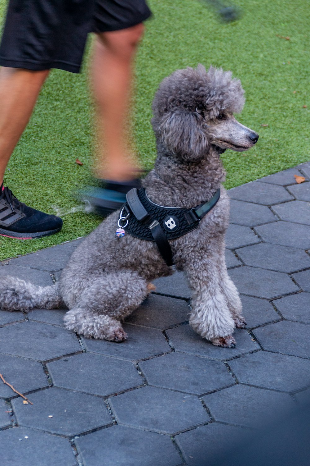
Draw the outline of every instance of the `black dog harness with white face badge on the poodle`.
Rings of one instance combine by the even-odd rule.
[[[119,227],[140,240],[155,241],[168,266],[173,264],[168,240],[174,240],[198,227],[199,221],[216,205],[220,188],[208,202],[192,209],[159,206],[152,202],[145,189],[132,188],[119,213]],[[124,225],[120,225],[124,223]]]

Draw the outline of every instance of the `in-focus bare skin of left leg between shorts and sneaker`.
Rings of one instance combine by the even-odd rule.
[[[49,70],[0,69],[0,185]]]

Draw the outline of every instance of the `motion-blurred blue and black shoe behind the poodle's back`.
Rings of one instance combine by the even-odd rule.
[[[95,212],[102,217],[120,209],[126,202],[126,193],[132,188],[141,188],[139,178],[122,182],[100,179],[99,182],[101,187],[87,186],[79,192],[79,196],[88,200]]]

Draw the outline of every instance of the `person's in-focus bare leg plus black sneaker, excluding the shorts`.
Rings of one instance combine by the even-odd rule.
[[[20,202],[3,185],[11,154],[31,117],[49,70],[0,69],[0,235],[32,239],[58,233],[62,220]]]

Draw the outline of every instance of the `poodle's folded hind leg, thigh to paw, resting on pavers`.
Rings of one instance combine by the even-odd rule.
[[[127,336],[120,321],[148,294],[147,282],[137,272],[94,275],[74,308],[65,314],[65,326],[86,338],[125,340]]]

